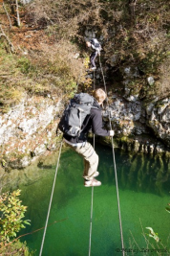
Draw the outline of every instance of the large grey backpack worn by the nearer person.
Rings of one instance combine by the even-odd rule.
[[[94,104],[94,97],[87,93],[74,95],[70,104],[64,110],[64,113],[58,124],[58,128],[67,135],[78,137],[83,128],[83,122],[90,114]]]

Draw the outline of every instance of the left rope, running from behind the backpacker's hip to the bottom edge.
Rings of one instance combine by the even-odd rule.
[[[55,170],[55,174],[54,174],[54,178],[53,178],[52,195],[51,195],[51,199],[50,199],[50,203],[49,203],[49,210],[48,210],[48,214],[47,214],[47,219],[46,219],[46,224],[45,224],[45,228],[44,228],[44,234],[43,234],[43,239],[42,239],[42,243],[41,243],[41,248],[40,248],[39,256],[42,255],[44,240],[45,240],[45,236],[46,236],[46,230],[47,230],[47,225],[48,225],[50,211],[51,211],[51,206],[52,206],[53,191],[54,191],[54,185],[55,185],[56,175],[57,175],[58,166],[59,166],[59,158],[60,158],[60,154],[61,154],[62,144],[63,144],[63,141],[61,141],[61,145],[60,145],[60,149],[59,149],[58,160],[57,160],[57,164],[56,164],[56,170]]]

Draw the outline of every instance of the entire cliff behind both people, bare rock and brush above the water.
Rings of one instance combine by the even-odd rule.
[[[104,80],[109,106],[103,116],[107,127],[111,111],[115,147],[169,155],[167,1],[22,4],[19,28],[16,15],[9,20],[11,3],[0,6],[1,168],[24,168],[55,150],[63,104],[77,89],[91,93]],[[95,76],[87,72],[90,52],[85,47],[92,37],[102,46]]]

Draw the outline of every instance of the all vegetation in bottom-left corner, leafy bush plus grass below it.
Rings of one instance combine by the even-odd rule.
[[[30,255],[26,244],[14,239],[25,224],[30,224],[23,220],[27,207],[19,196],[20,190],[0,196],[0,255]]]

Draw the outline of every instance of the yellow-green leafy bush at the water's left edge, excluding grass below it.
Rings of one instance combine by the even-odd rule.
[[[0,243],[10,243],[16,233],[30,224],[29,220],[24,221],[27,206],[22,205],[19,200],[20,190],[12,193],[4,193],[0,196]]]

